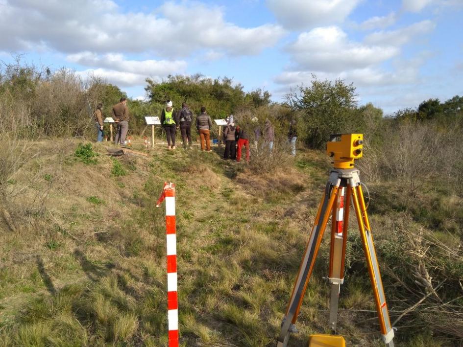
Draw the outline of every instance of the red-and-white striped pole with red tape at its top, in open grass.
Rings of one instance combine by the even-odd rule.
[[[156,202],[159,207],[166,199],[167,239],[167,309],[169,321],[169,347],[178,347],[178,299],[177,299],[177,239],[175,235],[175,185],[164,183],[164,189]]]

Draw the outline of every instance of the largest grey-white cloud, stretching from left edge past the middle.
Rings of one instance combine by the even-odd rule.
[[[251,55],[286,33],[280,25],[245,28],[226,22],[217,6],[166,2],[153,13],[122,12],[112,0],[15,0],[0,6],[2,50],[46,46],[65,53],[156,52],[186,57],[215,49]]]

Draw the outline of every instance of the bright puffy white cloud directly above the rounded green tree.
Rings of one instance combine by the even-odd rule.
[[[394,46],[368,46],[349,41],[337,26],[319,27],[299,35],[289,51],[298,69],[341,72],[381,63],[399,53]]]

